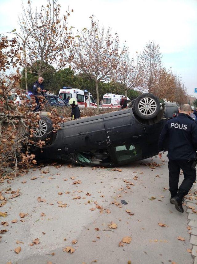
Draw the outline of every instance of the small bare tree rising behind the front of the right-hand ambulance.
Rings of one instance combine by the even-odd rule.
[[[136,58],[130,59],[129,52],[123,54],[122,60],[117,71],[117,81],[121,83],[125,89],[125,96],[127,91],[140,87],[143,83],[143,71],[141,59],[137,55]]]

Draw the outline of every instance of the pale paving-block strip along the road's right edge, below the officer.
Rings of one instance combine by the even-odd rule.
[[[196,192],[196,193],[195,193]],[[194,257],[194,264],[197,264],[197,182],[193,183],[192,189],[187,194],[187,226],[191,227],[188,230],[190,236],[190,244],[192,245],[191,255]]]

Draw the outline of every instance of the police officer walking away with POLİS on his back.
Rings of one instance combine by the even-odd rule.
[[[183,213],[183,197],[188,194],[196,179],[197,123],[190,117],[191,106],[183,104],[178,117],[168,120],[159,137],[159,158],[168,150],[170,202]],[[178,188],[180,169],[184,180]]]

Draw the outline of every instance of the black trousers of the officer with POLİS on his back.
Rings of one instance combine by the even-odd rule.
[[[172,196],[179,194],[187,195],[196,180],[196,169],[191,168],[193,161],[188,160],[169,160],[169,191]],[[184,180],[178,188],[180,169],[183,171]]]

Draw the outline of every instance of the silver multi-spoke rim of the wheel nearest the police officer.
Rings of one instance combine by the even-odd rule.
[[[150,97],[145,97],[139,101],[139,112],[145,116],[150,116],[155,113],[157,109],[156,101]]]

